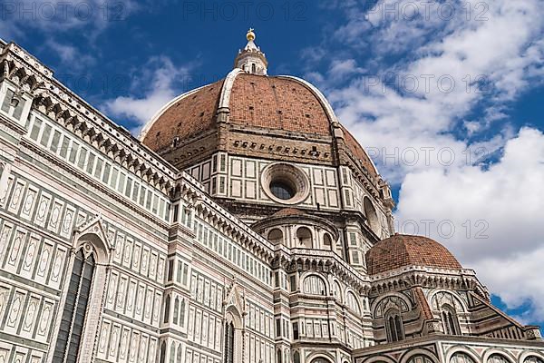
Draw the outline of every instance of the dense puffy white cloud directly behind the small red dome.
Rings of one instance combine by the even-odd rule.
[[[510,308],[529,301],[531,318],[542,320],[542,185],[544,134],[523,128],[489,169],[408,173],[395,217],[401,231],[417,225],[420,234],[441,241]]]

